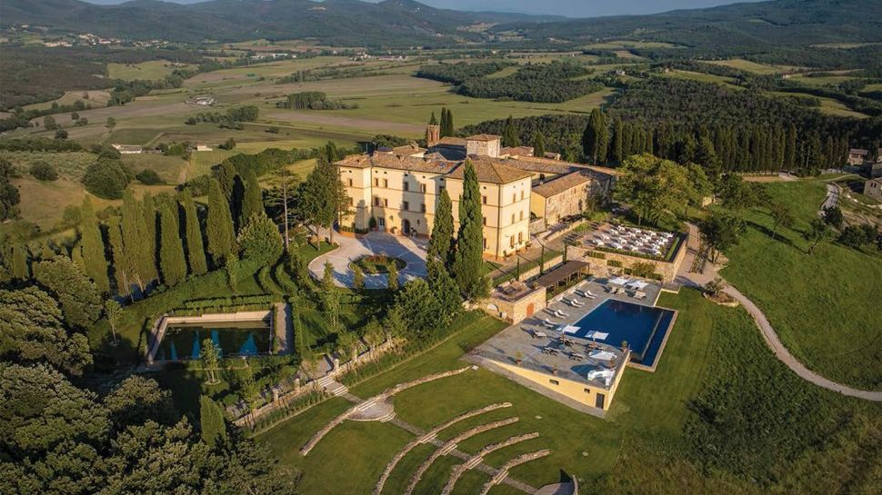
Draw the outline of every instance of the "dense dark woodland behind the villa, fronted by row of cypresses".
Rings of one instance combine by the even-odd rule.
[[[513,131],[506,128],[513,127]],[[627,84],[606,108],[606,142],[586,145],[587,115],[544,115],[466,126],[462,135],[499,134],[505,145],[535,144],[566,159],[620,163],[653,153],[678,163],[699,163],[716,173],[781,169],[812,174],[845,163],[851,146],[878,146],[882,117],[854,119],[820,114],[758,92],[719,84],[651,78]]]

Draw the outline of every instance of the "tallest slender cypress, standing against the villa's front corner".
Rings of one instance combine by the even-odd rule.
[[[486,295],[485,277],[481,275],[484,259],[484,227],[481,215],[481,190],[472,163],[466,160],[463,195],[459,201],[459,234],[453,263],[454,277],[466,299]]]

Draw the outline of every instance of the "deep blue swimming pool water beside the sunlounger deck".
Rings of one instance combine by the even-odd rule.
[[[588,339],[588,332],[609,333],[606,339],[596,339],[596,342],[619,347],[622,341],[627,341],[631,361],[653,366],[674,314],[671,310],[607,299],[574,323],[579,330],[573,335]]]

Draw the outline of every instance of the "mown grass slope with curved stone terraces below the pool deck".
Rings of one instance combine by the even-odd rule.
[[[688,494],[758,494],[769,492],[773,485],[766,482],[757,485],[738,476],[753,467],[739,466],[734,460],[729,460],[726,465],[705,470],[701,467],[704,460],[690,457],[689,452],[697,448],[692,445],[702,444],[700,438],[695,438],[698,433],[693,431],[696,431],[698,424],[705,424],[691,405],[698,397],[726,390],[733,398],[734,402],[728,407],[734,407],[737,411],[728,411],[732,416],[721,416],[716,423],[707,423],[729,439],[729,445],[724,447],[731,450],[724,450],[721,454],[723,458],[749,456],[747,452],[753,449],[748,444],[742,446],[735,443],[747,435],[738,429],[765,430],[763,435],[780,437],[781,440],[775,441],[776,445],[783,444],[783,439],[788,435],[797,434],[801,427],[795,419],[797,409],[794,408],[802,407],[800,401],[803,400],[825,404],[823,411],[817,411],[818,418],[824,421],[837,421],[835,418],[838,415],[853,413],[864,418],[843,422],[838,431],[824,431],[822,438],[817,439],[817,444],[809,446],[811,450],[806,451],[807,457],[821,456],[814,450],[818,445],[835,449],[837,441],[845,441],[838,438],[840,433],[860,437],[864,434],[859,426],[861,421],[874,417],[878,412],[877,407],[874,409],[859,401],[842,401],[836,394],[818,389],[793,375],[767,350],[754,323],[741,309],[716,306],[697,292],[686,289],[678,295],[663,294],[659,305],[679,311],[665,354],[655,373],[626,371],[606,420],[570,410],[484,369],[466,371],[397,394],[394,398],[396,415],[403,421],[429,429],[465,411],[499,401],[511,401],[512,408],[457,423],[442,431],[439,439],[449,439],[477,424],[517,416],[520,421],[476,435],[462,441],[457,448],[474,453],[486,444],[538,431],[540,436],[537,439],[498,450],[486,458],[489,465],[498,467],[523,452],[543,448],[553,450],[549,457],[512,470],[514,478],[534,486],[555,482],[559,471],[565,470],[576,475],[583,487],[590,487],[589,493],[664,494],[677,486],[681,493]],[[498,332],[501,326],[504,325],[487,317],[473,322],[469,328],[456,333],[436,349],[358,384],[351,391],[360,397],[368,397],[398,382],[459,368],[464,365],[463,361],[459,361],[459,356]],[[764,399],[763,394],[767,393],[768,387],[784,387],[786,392],[779,393],[777,399]],[[746,401],[737,401],[738,397]],[[759,406],[753,402],[757,400],[766,400],[766,403]],[[720,404],[720,407],[726,406]],[[326,421],[345,409],[346,402],[335,399],[257,437],[282,459],[283,464],[303,470],[301,487],[305,495],[369,492],[386,462],[413,439],[410,433],[389,423],[346,421],[319,442],[306,458],[301,456],[297,450],[306,440]],[[783,419],[767,421],[772,418]],[[880,423],[882,421],[875,421],[874,424],[882,427]],[[711,433],[702,433],[708,434]],[[869,438],[866,440],[872,442]],[[848,445],[852,447],[855,444]],[[771,461],[774,465],[760,469],[765,469],[765,473],[777,470],[788,472],[785,478],[791,484],[777,485],[783,488],[780,490],[782,493],[834,492],[825,490],[831,485],[841,484],[840,480],[849,476],[844,473],[849,472],[858,478],[859,482],[855,485],[866,489],[873,486],[872,475],[861,478],[863,475],[859,466],[861,463],[866,463],[865,466],[872,464],[876,455],[872,452],[882,451],[873,450],[879,448],[878,443],[874,444],[876,447],[868,445],[870,453],[857,460],[842,452],[826,454],[841,462],[835,466],[820,464],[820,469],[817,469],[818,464],[810,464],[814,469],[810,472],[796,469],[800,462],[807,461],[806,457],[801,456],[803,450],[791,451],[787,450],[789,447],[776,446],[772,448],[774,452],[768,454],[774,458]],[[407,454],[392,471],[384,493],[400,493],[413,471],[432,450],[432,447],[422,445]],[[812,458],[812,462],[818,461]],[[444,486],[450,468],[459,462],[449,456],[436,460],[436,465],[426,472],[417,485],[416,493],[437,493]],[[853,464],[857,465],[855,470],[860,471],[857,474],[852,471]],[[790,471],[790,467],[795,469]],[[812,491],[808,490],[813,485],[806,484],[807,479],[824,480],[824,483]],[[468,473],[459,482],[462,486],[457,484],[456,493],[474,493],[484,481],[486,475]],[[635,486],[639,490],[635,491]],[[516,491],[500,487],[491,493],[509,492]]]

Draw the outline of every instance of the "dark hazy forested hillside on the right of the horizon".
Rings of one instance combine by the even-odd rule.
[[[601,40],[665,42],[680,48],[639,49],[658,58],[744,56],[823,44],[882,42],[882,0],[775,0],[677,10],[654,15],[619,15],[549,23],[498,25],[537,42],[590,45]]]

